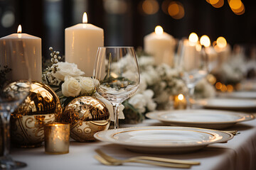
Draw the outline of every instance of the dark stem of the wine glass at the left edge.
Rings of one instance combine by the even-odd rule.
[[[3,156],[8,157],[10,151],[10,118],[8,111],[1,112],[1,125],[3,132]]]

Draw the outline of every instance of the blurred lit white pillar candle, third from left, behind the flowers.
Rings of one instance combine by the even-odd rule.
[[[145,52],[155,57],[156,64],[174,64],[174,37],[164,33],[161,26],[156,26],[155,32],[144,37]]]

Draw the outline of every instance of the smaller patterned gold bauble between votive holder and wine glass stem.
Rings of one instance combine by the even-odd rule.
[[[109,128],[110,113],[99,99],[81,96],[68,103],[60,121],[70,123],[70,137],[78,142],[88,142],[95,140],[95,132]]]

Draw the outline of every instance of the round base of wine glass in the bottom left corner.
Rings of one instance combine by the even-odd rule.
[[[0,169],[18,169],[27,166],[26,163],[16,162],[10,157],[1,157],[0,158]]]

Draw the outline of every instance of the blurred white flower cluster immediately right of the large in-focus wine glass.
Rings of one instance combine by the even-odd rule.
[[[128,102],[139,111],[154,111],[157,104],[169,102],[169,96],[186,93],[186,85],[179,78],[179,72],[167,64],[154,66],[154,57],[138,58],[141,81],[136,94]]]

